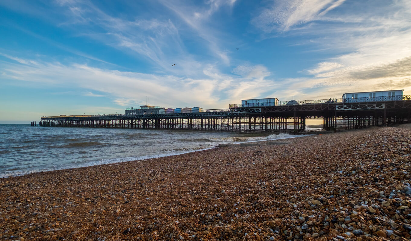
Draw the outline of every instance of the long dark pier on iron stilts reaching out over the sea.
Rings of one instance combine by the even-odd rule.
[[[337,120],[343,129],[411,123],[411,95],[393,97],[233,104],[187,113],[43,116],[39,126],[298,133],[305,130],[307,118],[323,119],[325,130],[336,130]]]

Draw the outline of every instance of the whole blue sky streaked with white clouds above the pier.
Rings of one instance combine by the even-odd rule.
[[[2,0],[0,123],[411,94],[410,43],[409,0]]]

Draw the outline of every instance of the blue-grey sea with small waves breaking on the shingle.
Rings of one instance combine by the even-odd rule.
[[[165,157],[215,148],[226,143],[298,136],[285,133],[242,134],[0,124],[0,177]]]

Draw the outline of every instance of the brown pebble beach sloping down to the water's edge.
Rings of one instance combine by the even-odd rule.
[[[0,179],[1,240],[409,240],[411,125]]]

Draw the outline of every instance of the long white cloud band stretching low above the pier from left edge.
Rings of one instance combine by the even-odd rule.
[[[29,60],[24,62],[30,63]],[[201,105],[226,108],[229,103],[238,102],[239,98],[259,97],[267,91],[275,91],[275,83],[266,78],[269,72],[262,65],[238,66],[233,71],[241,76],[222,74],[213,66],[206,66],[203,72],[208,77],[196,79],[43,61],[37,64],[5,64],[0,71],[5,73],[5,80],[47,82],[56,88],[92,90],[83,95],[105,96],[120,106],[136,105],[139,98],[148,97],[154,98],[155,105],[164,107]]]

